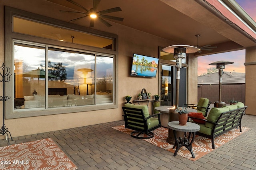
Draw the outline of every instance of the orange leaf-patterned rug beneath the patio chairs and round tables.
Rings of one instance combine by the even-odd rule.
[[[130,133],[133,131],[131,129],[125,129],[124,125],[112,127],[113,129],[116,129],[118,131],[127,133],[130,135]],[[239,131],[239,129],[233,129],[227,133],[224,133],[223,135],[220,135],[219,137],[216,137],[214,139],[215,148],[218,148],[219,146],[223,145],[224,143],[234,139],[235,137],[241,135],[242,133],[246,132],[249,128],[242,127],[242,132]],[[155,134],[153,138],[150,139],[143,139],[153,145],[156,145],[162,149],[168,150],[170,152],[175,152],[175,149],[172,149],[174,145],[169,144],[166,142],[166,139],[168,137],[168,128],[165,127],[159,127],[158,129],[154,130],[153,133]],[[208,154],[212,150],[212,141],[211,139],[208,139],[206,137],[201,137],[196,135],[195,140],[192,144],[192,150],[194,152],[195,158],[192,158],[191,153],[186,147],[181,147],[180,150],[178,150],[178,155],[188,158],[190,160],[197,160],[201,158],[202,156]]]

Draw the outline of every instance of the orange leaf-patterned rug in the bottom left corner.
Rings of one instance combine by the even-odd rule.
[[[0,147],[1,170],[76,170],[51,138]]]

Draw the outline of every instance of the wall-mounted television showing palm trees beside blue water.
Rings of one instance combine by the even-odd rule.
[[[130,76],[156,77],[158,58],[133,54]]]

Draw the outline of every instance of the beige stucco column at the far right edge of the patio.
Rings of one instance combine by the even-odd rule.
[[[246,114],[256,115],[254,100],[256,96],[256,47],[246,48],[245,52],[245,105]]]

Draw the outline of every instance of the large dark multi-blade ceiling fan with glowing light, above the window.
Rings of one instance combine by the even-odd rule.
[[[62,11],[60,10],[60,12],[72,12],[72,13],[80,13],[80,14],[84,14],[85,16],[76,18],[74,20],[70,20],[70,22],[74,22],[77,20],[80,20],[82,18],[85,18],[87,16],[90,16],[90,26],[89,27],[94,27],[94,20],[99,20],[102,23],[104,23],[107,27],[111,27],[112,25],[110,23],[108,23],[107,21],[105,21],[104,19],[111,19],[111,20],[118,20],[118,21],[123,21],[124,18],[120,18],[120,17],[115,17],[115,16],[108,16],[108,15],[104,15],[104,14],[108,14],[111,12],[118,12],[118,11],[122,11],[120,7],[116,7],[116,8],[110,8],[107,10],[102,10],[102,11],[97,11],[97,7],[98,4],[100,3],[100,0],[93,0],[93,5],[92,8],[90,8],[90,10],[84,8],[82,5],[74,2],[73,0],[67,0],[68,2],[75,4],[76,6],[79,6],[80,8],[82,8],[83,10],[85,10],[86,12],[74,12],[74,11]]]

